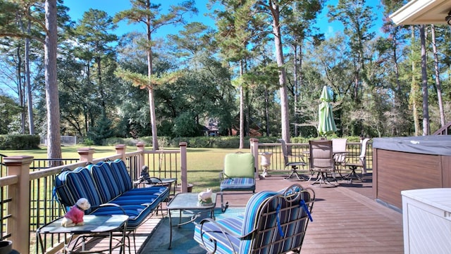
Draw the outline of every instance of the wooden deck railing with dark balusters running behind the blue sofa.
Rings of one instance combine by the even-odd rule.
[[[186,143],[180,143],[179,149],[165,151],[145,151],[141,143],[137,144],[137,151],[131,153],[125,152],[124,145],[115,148],[116,155],[97,159],[93,158],[93,148],[80,148],[79,160],[72,159],[73,163],[51,168],[45,167],[44,160],[33,160],[32,156],[2,157],[1,170],[8,175],[0,177],[0,239],[13,241],[13,248],[20,253],[39,253],[36,229],[64,214],[53,195],[54,179],[63,168],[74,170],[88,162],[120,158],[124,160],[132,179],[137,179],[142,166],[147,165],[151,176],[185,179],[180,189],[187,192]],[[51,235],[43,240],[44,249],[58,249],[62,247],[63,235]]]

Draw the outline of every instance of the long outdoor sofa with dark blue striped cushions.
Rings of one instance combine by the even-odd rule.
[[[123,160],[97,163],[64,171],[55,179],[58,202],[68,211],[79,198],[87,198],[89,215],[128,215],[127,231],[135,231],[169,195],[167,186],[133,188]]]

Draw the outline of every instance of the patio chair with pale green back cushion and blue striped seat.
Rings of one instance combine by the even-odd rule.
[[[221,210],[228,208],[224,204],[224,191],[252,191],[255,193],[254,155],[251,153],[228,153],[224,158],[223,172],[219,174],[221,181]]]

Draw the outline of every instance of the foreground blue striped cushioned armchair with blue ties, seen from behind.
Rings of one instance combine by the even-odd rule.
[[[249,199],[243,215],[199,222],[194,240],[208,253],[299,253],[313,221],[314,200],[314,191],[299,184],[261,191]]]

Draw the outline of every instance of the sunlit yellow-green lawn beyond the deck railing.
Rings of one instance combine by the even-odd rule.
[[[79,158],[78,148],[86,146],[62,146],[63,158]],[[103,158],[109,155],[115,155],[116,150],[113,146],[89,146],[94,148],[94,158]],[[128,146],[127,152],[136,151],[136,147]],[[187,179],[190,184],[194,184],[194,192],[204,191],[211,188],[213,191],[219,191],[219,173],[223,168],[223,160],[226,153],[235,153],[237,151],[249,152],[249,149],[236,148],[187,148]],[[47,158],[47,149],[37,150],[0,150],[0,154],[30,155],[35,158]]]

